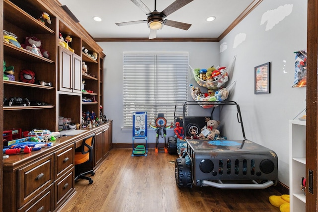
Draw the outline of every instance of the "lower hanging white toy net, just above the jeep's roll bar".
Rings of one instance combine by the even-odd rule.
[[[206,94],[206,93],[200,93],[196,88],[193,88],[191,85],[191,96],[194,101],[197,101],[198,104],[203,107],[203,108],[212,108],[212,107],[217,107],[218,105],[211,104],[211,102],[215,101],[224,101],[226,100],[230,92],[233,92],[234,87],[235,87],[236,81],[231,83],[228,87],[225,88],[220,88],[219,90],[215,91],[215,93]],[[200,104],[203,103],[203,104]]]

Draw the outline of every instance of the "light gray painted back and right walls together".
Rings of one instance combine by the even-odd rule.
[[[285,4],[292,5],[279,7]],[[275,12],[277,8],[282,9],[279,15],[271,13],[266,16],[266,11]],[[264,13],[264,17],[276,17],[276,19],[267,20],[267,18],[267,21],[262,23]],[[272,21],[276,24],[271,25]],[[267,28],[271,29],[266,30]],[[233,57],[237,56],[232,75],[232,81],[236,80],[237,83],[230,99],[240,105],[246,138],[276,152],[279,159],[279,181],[289,186],[289,120],[306,107],[306,87],[292,88],[295,70],[294,52],[306,49],[307,46],[306,0],[264,0],[219,43],[99,42],[98,44],[106,54],[103,107],[107,118],[113,120],[114,143],[132,141],[131,129],[122,129],[122,53],[124,51],[187,51],[189,64],[193,68],[228,66]],[[271,93],[255,95],[254,67],[266,62],[271,63]],[[192,75],[189,74],[189,84],[195,84],[191,78]],[[190,95],[188,99],[192,100]],[[203,109],[191,113],[209,115],[209,111],[210,109]],[[234,125],[233,116],[230,117],[222,112],[221,116],[223,116],[220,120],[223,122],[224,134],[230,139],[241,138],[241,131]],[[148,133],[149,142],[156,142],[155,131],[149,130]],[[173,131],[169,131],[167,136],[171,135]]]

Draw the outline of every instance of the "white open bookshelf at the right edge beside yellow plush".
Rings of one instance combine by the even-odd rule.
[[[306,196],[301,179],[306,177],[306,121],[289,121],[290,212],[306,211]]]

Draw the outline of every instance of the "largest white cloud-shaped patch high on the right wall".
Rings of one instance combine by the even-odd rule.
[[[277,9],[271,9],[264,12],[262,15],[260,25],[267,21],[265,31],[272,29],[276,24],[282,21],[286,16],[290,15],[293,11],[293,4],[285,4],[279,6]]]

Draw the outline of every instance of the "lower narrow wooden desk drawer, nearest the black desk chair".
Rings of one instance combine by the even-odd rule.
[[[71,195],[74,190],[74,169],[69,173],[62,176],[58,181],[54,183],[55,189],[55,209],[64,204],[68,199],[67,196]]]

